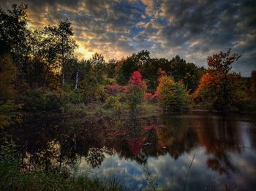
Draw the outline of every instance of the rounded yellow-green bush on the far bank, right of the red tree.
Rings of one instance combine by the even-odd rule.
[[[188,93],[182,82],[174,82],[166,75],[159,78],[157,86],[160,104],[168,111],[182,111],[187,108]]]

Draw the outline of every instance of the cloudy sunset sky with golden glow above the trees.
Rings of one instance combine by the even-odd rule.
[[[151,58],[180,55],[207,68],[207,56],[232,48],[241,55],[233,70],[256,70],[255,0],[0,0],[2,8],[29,5],[29,26],[72,23],[78,58],[95,52],[126,58],[148,50]]]

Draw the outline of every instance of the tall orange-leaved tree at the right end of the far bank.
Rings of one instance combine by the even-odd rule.
[[[223,112],[237,106],[245,96],[246,87],[241,74],[230,73],[230,70],[231,64],[240,57],[231,54],[230,49],[208,56],[208,71],[200,79],[196,97]]]

